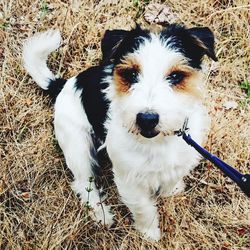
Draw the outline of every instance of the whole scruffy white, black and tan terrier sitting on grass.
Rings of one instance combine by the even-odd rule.
[[[216,60],[213,33],[177,24],[160,32],[138,25],[106,31],[100,65],[68,80],[56,78],[46,65],[60,42],[57,30],[39,33],[26,41],[23,59],[55,100],[55,134],[74,175],[73,190],[89,202],[95,220],[112,224],[98,188],[86,191],[102,168],[98,152],[106,149],[135,228],[160,239],[156,197],[183,190],[183,177],[200,158],[175,131],[188,118],[190,134],[202,143],[209,127],[201,63],[205,54]]]

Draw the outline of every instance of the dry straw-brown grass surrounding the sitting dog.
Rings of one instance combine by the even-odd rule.
[[[133,229],[117,195],[108,200],[117,224],[107,229],[87,218],[70,188],[53,107],[22,66],[22,44],[59,28],[64,42],[49,64],[68,78],[98,63],[106,29],[130,29],[135,21],[148,28],[149,2],[155,1],[0,1],[0,249],[250,249],[250,200],[207,161],[186,177],[185,192],[159,200],[159,242]],[[250,173],[250,2],[165,3],[178,22],[215,33],[219,62],[206,59],[206,148]],[[228,101],[237,107],[226,108]]]

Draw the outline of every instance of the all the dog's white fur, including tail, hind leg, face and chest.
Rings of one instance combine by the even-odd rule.
[[[192,137],[201,143],[209,127],[207,112],[199,98],[173,90],[166,74],[175,65],[187,64],[183,55],[166,48],[155,34],[151,41],[145,40],[133,56],[140,62],[142,72],[138,83],[129,93],[116,93],[112,77],[106,96],[111,101],[109,118],[105,123],[107,138],[105,146],[113,164],[114,179],[122,201],[129,207],[135,227],[147,237],[160,239],[155,194],[172,195],[184,188],[182,178],[199,162],[199,154],[181,138],[173,135],[180,129],[186,117]],[[42,49],[36,48],[40,43]],[[24,47],[25,67],[44,89],[53,74],[47,69],[46,58],[59,45],[59,36],[47,32],[28,41]],[[38,58],[36,58],[38,57]],[[112,65],[106,71],[110,72]],[[202,77],[199,74],[196,81]],[[72,188],[83,202],[88,199],[97,220],[103,219],[98,206],[99,196],[93,188],[90,198],[85,190],[89,186],[93,146],[90,138],[91,125],[80,101],[80,92],[75,89],[75,78],[67,81],[55,104],[55,133],[68,167],[74,174]],[[157,129],[160,133],[151,139],[144,138],[136,130],[136,115],[151,110],[160,116]],[[167,136],[166,136],[167,135]],[[104,207],[105,222],[110,224],[112,216]]]

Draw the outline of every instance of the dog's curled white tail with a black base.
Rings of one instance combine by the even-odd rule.
[[[66,80],[56,78],[47,66],[48,55],[61,43],[59,30],[48,30],[27,39],[23,47],[24,67],[34,81],[56,98]]]

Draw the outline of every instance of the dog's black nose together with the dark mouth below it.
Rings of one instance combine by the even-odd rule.
[[[159,134],[155,128],[159,123],[159,115],[154,112],[138,113],[136,124],[140,129],[140,134],[146,138],[153,138]]]

